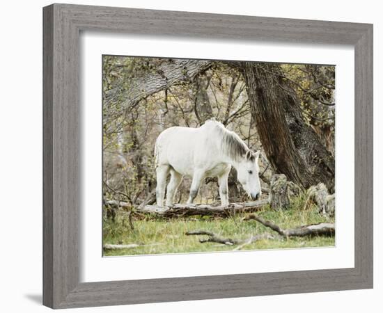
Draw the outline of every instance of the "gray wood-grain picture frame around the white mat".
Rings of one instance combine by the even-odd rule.
[[[44,305],[87,307],[373,287],[371,24],[67,4],[45,7],[43,22]],[[79,283],[79,32],[82,30],[354,45],[354,268]]]

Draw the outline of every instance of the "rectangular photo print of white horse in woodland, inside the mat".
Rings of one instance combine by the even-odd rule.
[[[103,255],[335,246],[335,72],[102,56]]]

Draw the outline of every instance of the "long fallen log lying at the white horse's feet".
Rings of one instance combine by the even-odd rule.
[[[118,207],[131,207],[127,202],[107,200],[105,202],[111,206]],[[166,218],[176,216],[230,216],[238,213],[250,213],[258,211],[260,208],[269,204],[269,200],[257,200],[251,202],[237,202],[231,203],[227,207],[212,206],[209,204],[174,204],[173,207],[158,207],[157,205],[145,205],[143,207],[136,207],[135,211],[146,214],[156,214]]]

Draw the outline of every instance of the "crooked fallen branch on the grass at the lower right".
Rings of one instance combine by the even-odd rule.
[[[335,224],[334,223],[320,223],[313,225],[303,225],[296,228],[291,228],[288,230],[283,230],[278,225],[270,222],[269,220],[264,220],[255,214],[250,214],[249,216],[243,218],[243,220],[256,220],[262,225],[271,228],[274,232],[277,232],[281,236],[291,237],[291,236],[334,236],[335,234]]]

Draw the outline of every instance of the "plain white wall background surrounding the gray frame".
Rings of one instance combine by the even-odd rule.
[[[50,1],[3,1],[1,3],[0,49],[0,310],[3,312],[47,312],[41,305],[42,290],[42,6]],[[70,1],[102,6],[127,6],[162,10],[327,19],[374,24],[375,98],[375,289],[318,294],[263,296],[182,303],[96,307],[81,312],[378,312],[382,307],[383,274],[382,214],[378,211],[383,175],[378,145],[383,127],[378,120],[382,83],[383,21],[379,1],[177,1],[110,0]],[[5,69],[4,69],[5,66]],[[379,133],[379,134],[378,134]],[[379,188],[380,189],[380,188]],[[382,201],[380,201],[382,202]],[[375,309],[374,309],[375,307]],[[72,311],[72,310],[70,310]]]

